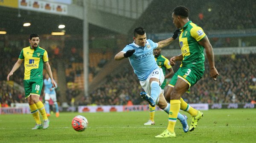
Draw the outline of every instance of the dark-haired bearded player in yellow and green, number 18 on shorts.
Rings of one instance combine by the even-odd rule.
[[[52,80],[52,87],[55,87],[55,81],[52,77],[52,70],[49,65],[47,51],[39,47],[39,35],[30,34],[29,43],[30,46],[23,48],[20,52],[20,56],[13,66],[11,72],[7,76],[7,81],[14,72],[20,67],[24,60],[24,89],[25,98],[28,100],[29,108],[32,116],[36,122],[35,127],[32,129],[47,129],[49,127],[49,119],[47,118],[44,104],[39,100],[41,90],[43,87],[43,69],[44,63],[46,71]],[[41,113],[44,124],[42,125],[39,112]]]

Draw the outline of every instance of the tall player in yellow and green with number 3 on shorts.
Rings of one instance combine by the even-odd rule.
[[[172,12],[174,25],[181,29],[179,36],[181,54],[170,59],[170,64],[175,65],[175,61],[181,61],[180,69],[172,77],[169,91],[166,96],[170,97],[169,123],[167,129],[156,137],[176,137],[174,127],[177,120],[177,114],[180,109],[187,110],[188,105],[181,96],[190,89],[191,86],[200,80],[204,74],[204,49],[209,62],[209,74],[213,80],[218,77],[218,71],[215,68],[214,54],[212,46],[204,33],[203,29],[189,21],[189,9],[185,6],[177,6]],[[187,111],[188,112],[188,111]],[[203,113],[198,110],[190,111],[192,122],[189,131],[193,131],[201,119]]]

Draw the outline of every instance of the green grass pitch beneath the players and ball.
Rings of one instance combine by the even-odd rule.
[[[186,112],[189,119],[190,115]],[[60,113],[49,117],[49,129],[31,130],[31,114],[1,114],[0,143],[255,143],[256,109],[212,109],[203,111],[193,132],[184,133],[177,120],[176,138],[154,138],[168,124],[165,112],[155,113],[155,125],[144,126],[148,112]],[[84,132],[76,132],[71,121],[82,115],[89,122]]]

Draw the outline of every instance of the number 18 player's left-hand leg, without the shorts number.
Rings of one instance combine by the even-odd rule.
[[[24,83],[24,89],[25,89],[25,98],[28,100],[30,112],[35,120],[35,127],[32,129],[41,129],[42,123],[40,120],[39,112],[30,96],[31,86],[30,86],[29,80],[24,80],[23,83]]]

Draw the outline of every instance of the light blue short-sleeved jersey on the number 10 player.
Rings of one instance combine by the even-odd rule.
[[[159,68],[153,55],[153,50],[156,49],[157,46],[157,43],[148,39],[145,47],[141,47],[134,42],[125,46],[122,50],[122,52],[125,53],[128,50],[135,49],[134,54],[129,57],[129,61],[134,69],[134,73],[140,81],[146,80],[151,72]]]

